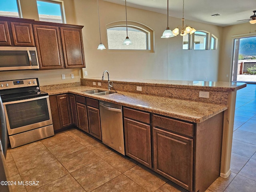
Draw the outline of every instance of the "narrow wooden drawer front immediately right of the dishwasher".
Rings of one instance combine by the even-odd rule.
[[[150,124],[150,113],[124,107],[124,117]]]

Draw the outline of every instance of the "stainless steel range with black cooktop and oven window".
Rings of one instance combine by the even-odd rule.
[[[0,82],[11,148],[54,135],[48,93],[38,78]]]

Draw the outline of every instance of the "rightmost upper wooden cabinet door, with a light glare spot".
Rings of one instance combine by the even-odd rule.
[[[60,28],[66,68],[85,67],[82,30]]]

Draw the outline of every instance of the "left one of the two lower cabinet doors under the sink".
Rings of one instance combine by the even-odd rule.
[[[76,107],[77,107],[78,128],[80,128],[80,129],[84,130],[85,132],[89,133],[86,105],[77,102]]]

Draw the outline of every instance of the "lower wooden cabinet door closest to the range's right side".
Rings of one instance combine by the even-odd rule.
[[[61,127],[72,125],[71,110],[70,110],[70,99],[68,94],[57,96],[58,110],[60,114]]]

